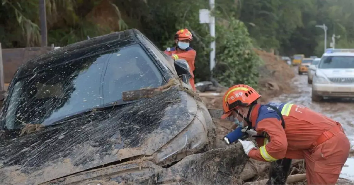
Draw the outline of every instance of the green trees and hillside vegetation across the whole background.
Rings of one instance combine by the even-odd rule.
[[[1,0],[0,41],[4,48],[40,45],[38,0]],[[199,23],[206,0],[46,0],[48,44],[65,46],[112,31],[137,28],[161,50],[173,45],[178,29],[188,28],[197,51],[196,81],[209,80],[207,24]],[[224,85],[254,84],[261,64],[252,48],[281,55],[321,56],[333,33],[337,48],[354,47],[353,0],[217,0],[217,68]]]

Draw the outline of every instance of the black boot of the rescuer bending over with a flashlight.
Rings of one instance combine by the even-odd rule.
[[[292,159],[283,158],[270,165],[267,184],[285,184],[290,172]]]

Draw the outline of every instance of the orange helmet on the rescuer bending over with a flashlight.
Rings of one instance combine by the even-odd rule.
[[[260,97],[261,95],[248,85],[239,84],[230,87],[228,91],[225,92],[223,98],[224,114],[221,118],[225,119],[229,117],[232,111],[239,106],[250,106]]]

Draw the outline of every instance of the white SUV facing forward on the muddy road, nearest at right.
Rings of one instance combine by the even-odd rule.
[[[312,101],[323,97],[354,98],[354,50],[324,53],[312,84]]]

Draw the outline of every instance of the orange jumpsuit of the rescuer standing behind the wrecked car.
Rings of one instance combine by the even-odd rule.
[[[194,74],[193,74],[193,71],[195,69],[194,67],[195,56],[196,56],[195,50],[193,50],[193,48],[191,47],[188,47],[185,50],[177,50],[176,47],[171,47],[171,48],[167,48],[167,50],[165,50],[165,53],[171,56],[174,60],[177,60],[178,58],[187,60],[190,68],[190,74],[192,75],[192,77],[189,79],[189,82],[193,90],[196,91],[194,86]]]

